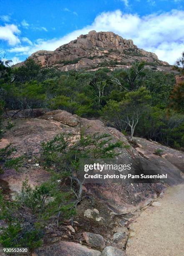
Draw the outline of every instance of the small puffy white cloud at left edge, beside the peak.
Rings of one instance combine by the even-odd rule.
[[[20,43],[20,39],[17,36],[19,33],[20,30],[14,24],[0,26],[0,39],[8,41],[8,44],[11,46]]]

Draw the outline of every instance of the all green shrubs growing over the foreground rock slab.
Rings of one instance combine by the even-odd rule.
[[[83,180],[73,175],[78,172],[80,158],[113,158],[118,155],[115,148],[122,146],[120,141],[111,143],[108,134],[98,133],[92,136],[81,133],[77,140],[72,134],[58,134],[43,142],[38,160],[50,172],[50,179],[35,188],[25,180],[15,199],[5,200],[0,192],[0,220],[6,221],[6,227],[0,228],[0,243],[4,247],[38,247],[49,223],[62,233],[63,221],[76,214],[75,208],[82,200]],[[1,163],[3,168],[7,163],[18,167],[17,161],[13,165],[8,159],[13,150],[9,147],[0,150],[0,160],[5,160]],[[61,180],[64,191],[60,188]]]

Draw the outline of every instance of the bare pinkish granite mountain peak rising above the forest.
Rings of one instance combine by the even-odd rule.
[[[113,32],[90,31],[76,40],[64,44],[55,51],[36,51],[30,58],[42,67],[56,67],[61,71],[71,69],[111,69],[131,65],[134,61],[145,61],[146,65],[167,66],[156,54],[139,49],[132,40],[126,40]]]

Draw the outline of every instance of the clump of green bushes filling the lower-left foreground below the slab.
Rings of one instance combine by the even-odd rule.
[[[16,199],[7,201],[0,194],[0,205],[0,219],[7,224],[0,227],[4,247],[39,247],[51,218],[61,222],[75,214],[73,195],[60,192],[58,182],[51,180],[35,188],[25,180]]]

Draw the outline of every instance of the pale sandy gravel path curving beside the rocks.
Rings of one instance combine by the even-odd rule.
[[[168,188],[157,202],[131,225],[127,256],[184,255],[184,184]]]

